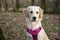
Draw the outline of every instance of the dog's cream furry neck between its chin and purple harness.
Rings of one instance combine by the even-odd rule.
[[[31,29],[31,30],[35,30],[39,27],[42,27],[41,25],[41,21],[38,22],[31,22],[29,19],[26,19],[27,22],[27,28]]]

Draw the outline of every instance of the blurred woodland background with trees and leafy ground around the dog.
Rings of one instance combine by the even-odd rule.
[[[24,8],[40,6],[50,40],[60,40],[60,0],[0,0],[0,40],[26,40]]]

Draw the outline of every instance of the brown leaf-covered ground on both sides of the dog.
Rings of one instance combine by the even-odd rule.
[[[60,40],[60,14],[44,14],[42,25],[50,40]],[[24,13],[1,12],[0,27],[6,40],[26,40]]]

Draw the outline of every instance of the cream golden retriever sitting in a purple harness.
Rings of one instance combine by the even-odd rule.
[[[49,40],[41,24],[43,12],[39,6],[29,6],[24,10],[27,40]]]

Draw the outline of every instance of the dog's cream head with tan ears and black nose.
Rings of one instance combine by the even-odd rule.
[[[24,10],[24,13],[32,22],[41,21],[43,18],[43,10],[38,6],[29,6]]]

